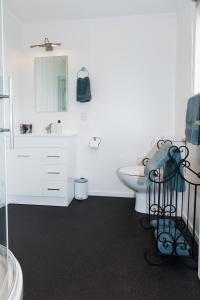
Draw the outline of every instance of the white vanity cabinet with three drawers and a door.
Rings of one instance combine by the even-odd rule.
[[[7,147],[10,203],[68,206],[75,178],[76,135],[17,136]]]

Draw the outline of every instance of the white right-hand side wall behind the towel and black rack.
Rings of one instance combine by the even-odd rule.
[[[183,0],[182,10],[177,15],[177,97],[176,97],[176,135],[185,137],[185,116],[187,101],[194,94],[194,22],[195,4],[190,0]],[[188,160],[191,168],[197,173],[200,170],[200,149],[187,143],[190,155]],[[192,178],[190,178],[192,180]],[[192,199],[191,199],[192,201]],[[200,194],[197,195],[197,223],[196,233],[199,236]],[[189,220],[192,225],[192,219]],[[200,278],[200,260],[198,275]]]

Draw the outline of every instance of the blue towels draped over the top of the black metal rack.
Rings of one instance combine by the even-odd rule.
[[[170,150],[169,150],[170,149]],[[169,156],[169,151],[171,153],[171,157]],[[164,143],[160,149],[152,156],[145,167],[145,176],[147,177],[146,184],[147,186],[152,185],[152,181],[149,178],[149,173],[153,170],[157,170],[160,167],[163,167],[164,174],[163,178],[168,182],[169,187],[172,190],[176,190],[178,192],[185,191],[185,181],[181,176],[178,176],[176,179],[177,166],[181,161],[181,153],[177,151],[177,147],[172,146],[171,143]],[[183,166],[179,166],[179,171],[183,176]],[[152,175],[152,173],[151,173]],[[172,176],[172,179],[170,177]],[[153,179],[153,177],[151,177]]]

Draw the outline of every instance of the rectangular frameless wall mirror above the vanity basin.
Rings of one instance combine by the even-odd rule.
[[[64,112],[68,104],[67,56],[36,57],[35,106],[37,112]]]

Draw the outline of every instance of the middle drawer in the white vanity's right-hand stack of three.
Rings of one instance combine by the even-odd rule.
[[[61,165],[42,166],[42,178],[44,181],[67,181],[67,170]]]

